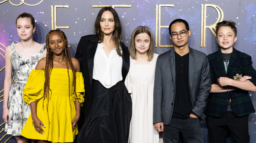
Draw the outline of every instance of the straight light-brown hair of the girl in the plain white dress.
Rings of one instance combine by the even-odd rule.
[[[152,60],[154,56],[154,40],[152,31],[147,26],[139,26],[134,29],[130,42],[130,55],[136,59],[135,37],[141,33],[146,33],[150,37],[150,45],[147,51],[148,60]]]

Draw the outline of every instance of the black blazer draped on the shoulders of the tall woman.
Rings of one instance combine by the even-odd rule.
[[[87,118],[91,109],[91,85],[93,79],[93,65],[98,41],[99,38],[96,35],[86,35],[81,37],[75,53],[75,58],[80,62],[85,88],[85,100],[83,106],[81,107],[81,115],[79,120],[81,126],[84,120]],[[123,42],[121,43],[121,48],[123,52],[122,81],[124,82],[130,68],[130,59],[128,47],[126,47]]]

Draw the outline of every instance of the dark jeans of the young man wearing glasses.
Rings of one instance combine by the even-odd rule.
[[[203,143],[198,118],[172,118],[170,124],[163,125],[163,128],[164,143],[178,143],[180,131],[186,143]]]

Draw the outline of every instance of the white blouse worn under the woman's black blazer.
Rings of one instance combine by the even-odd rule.
[[[123,79],[123,59],[117,54],[116,48],[107,56],[103,47],[103,43],[98,43],[94,56],[93,79],[98,80],[104,87],[110,88]]]

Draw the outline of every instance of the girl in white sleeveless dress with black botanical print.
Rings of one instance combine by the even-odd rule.
[[[35,19],[31,14],[20,14],[16,26],[21,42],[14,41],[5,49],[3,119],[7,134],[22,143],[28,142],[21,136],[21,131],[31,113],[30,106],[22,99],[22,92],[30,72],[35,69],[38,60],[46,56],[46,47],[33,41]]]

